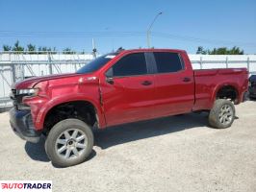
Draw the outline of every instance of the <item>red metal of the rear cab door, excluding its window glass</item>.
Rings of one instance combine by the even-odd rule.
[[[157,74],[155,77],[156,101],[155,117],[182,114],[192,111],[194,103],[194,80],[192,65],[186,52],[178,52],[184,60],[185,68],[175,73]],[[184,82],[189,78],[189,82]]]

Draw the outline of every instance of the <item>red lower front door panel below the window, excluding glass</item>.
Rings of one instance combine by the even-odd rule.
[[[100,84],[108,126],[150,119],[154,116],[155,85],[153,75],[115,78],[115,84]],[[152,84],[143,86],[141,83]]]

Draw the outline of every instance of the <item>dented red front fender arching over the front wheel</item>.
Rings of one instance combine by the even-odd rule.
[[[43,129],[44,118],[51,108],[71,101],[90,102],[97,111],[100,126],[105,126],[105,117],[99,103],[98,78],[91,74],[73,74],[69,77],[50,79],[47,82],[46,95],[40,95],[39,91],[37,97],[23,99],[23,102],[31,107],[37,130]]]

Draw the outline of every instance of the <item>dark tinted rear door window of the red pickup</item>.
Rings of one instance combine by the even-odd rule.
[[[158,73],[177,72],[183,69],[183,62],[177,53],[154,53]]]

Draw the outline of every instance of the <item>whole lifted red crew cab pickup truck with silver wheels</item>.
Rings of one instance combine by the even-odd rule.
[[[209,111],[214,128],[230,127],[247,86],[245,68],[192,70],[182,50],[122,50],[76,73],[13,84],[10,122],[27,141],[44,134],[52,163],[71,166],[90,155],[93,129],[192,111]]]

